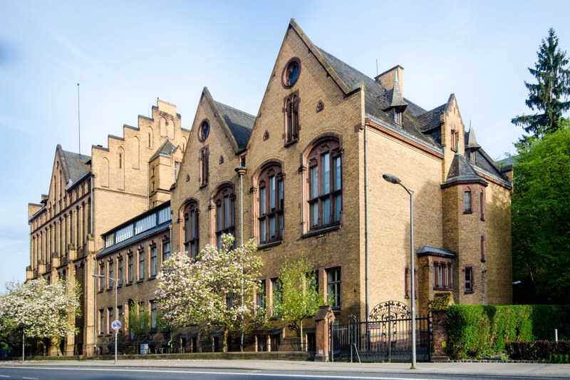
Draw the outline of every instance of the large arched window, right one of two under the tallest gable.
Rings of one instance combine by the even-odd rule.
[[[336,140],[309,155],[309,229],[338,225],[342,212],[342,160]]]

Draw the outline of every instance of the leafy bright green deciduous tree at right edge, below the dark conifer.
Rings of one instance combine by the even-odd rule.
[[[570,129],[519,155],[512,195],[513,274],[523,303],[570,303]]]

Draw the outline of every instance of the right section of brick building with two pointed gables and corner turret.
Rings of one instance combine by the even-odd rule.
[[[393,173],[414,192],[418,309],[443,290],[460,303],[512,302],[511,169],[465,131],[454,95],[425,110],[403,94],[401,66],[369,78],[291,20],[257,117],[202,91],[172,191],[172,250],[253,237],[267,305],[285,258],[301,255],[337,319],[409,305],[409,196],[383,180]]]

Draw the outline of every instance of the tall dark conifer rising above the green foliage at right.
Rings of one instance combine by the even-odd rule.
[[[521,125],[528,136],[523,136],[517,143],[519,150],[524,150],[533,140],[539,140],[548,133],[553,133],[564,122],[562,114],[569,110],[570,70],[566,68],[569,60],[566,51],[558,47],[558,37],[554,29],[549,29],[546,41],[541,41],[537,51],[538,61],[529,72],[537,78],[537,83],[524,81],[529,89],[529,98],[525,101],[534,115],[519,115],[512,119],[514,125]]]

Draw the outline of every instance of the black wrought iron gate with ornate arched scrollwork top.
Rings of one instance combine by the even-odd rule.
[[[412,317],[402,302],[388,301],[376,305],[368,321],[351,316],[348,324],[332,322],[330,357],[332,361],[411,361]],[[430,361],[432,322],[430,315],[415,318],[416,358]]]

